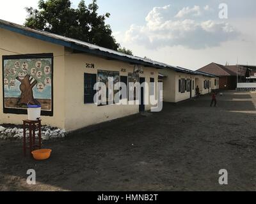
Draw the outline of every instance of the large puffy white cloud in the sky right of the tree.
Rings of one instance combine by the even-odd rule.
[[[193,12],[196,10],[197,7],[194,6]],[[148,48],[182,45],[200,49],[219,46],[220,43],[232,40],[238,35],[226,22],[196,21],[193,18],[177,20],[166,15],[170,12],[170,5],[154,8],[148,13],[145,25],[131,25],[125,33],[125,41]],[[194,14],[198,15],[196,12]],[[180,17],[182,15],[180,13]]]

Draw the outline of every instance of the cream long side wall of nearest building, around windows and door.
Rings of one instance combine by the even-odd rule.
[[[86,63],[93,63],[95,68],[86,68]],[[126,71],[122,72],[121,69]],[[139,112],[139,105],[105,105],[84,104],[84,73],[97,74],[98,69],[119,71],[120,76],[127,76],[133,72],[134,66],[121,61],[106,60],[87,54],[72,54],[65,57],[65,128],[68,131],[83,128],[107,120],[117,119]],[[144,68],[140,77],[150,82],[150,77],[158,80],[158,71],[155,68]],[[156,83],[155,83],[156,85]],[[156,86],[157,95],[157,86]],[[149,98],[148,91],[145,97]],[[156,96],[157,97],[157,96]],[[149,110],[151,105],[146,105]]]

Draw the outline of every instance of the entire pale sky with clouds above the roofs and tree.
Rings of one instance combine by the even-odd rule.
[[[1,1],[0,18],[22,24],[37,0]],[[73,0],[74,7],[79,3]],[[90,1],[86,1],[90,3]],[[220,19],[220,3],[228,18]],[[256,64],[255,0],[98,0],[116,40],[134,55],[198,69],[210,62]],[[10,9],[6,9],[10,8]],[[179,14],[179,15],[178,15]]]

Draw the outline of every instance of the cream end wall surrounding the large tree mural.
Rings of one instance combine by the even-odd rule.
[[[64,75],[64,47],[47,43],[45,41],[36,40],[22,34],[13,33],[0,28],[0,47],[12,52],[0,50],[0,59],[2,55],[17,55],[19,54],[42,54],[53,53],[53,116],[42,116],[42,124],[64,128],[65,121],[65,97],[63,87],[65,82]],[[12,123],[22,124],[22,120],[28,119],[27,115],[3,113],[3,68],[2,62],[0,65],[0,124]]]

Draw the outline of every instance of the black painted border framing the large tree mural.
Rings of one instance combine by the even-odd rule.
[[[17,109],[17,108],[5,108],[4,105],[4,60],[8,59],[38,59],[38,58],[48,58],[51,59],[51,111],[48,110],[42,110],[41,115],[44,116],[53,116],[53,100],[54,100],[54,94],[53,94],[53,84],[54,84],[54,63],[53,63],[53,54],[52,53],[44,53],[44,54],[24,54],[24,55],[2,55],[2,80],[3,80],[3,113],[11,113],[11,114],[18,114],[18,115],[24,115],[27,114],[28,111],[25,109]]]

